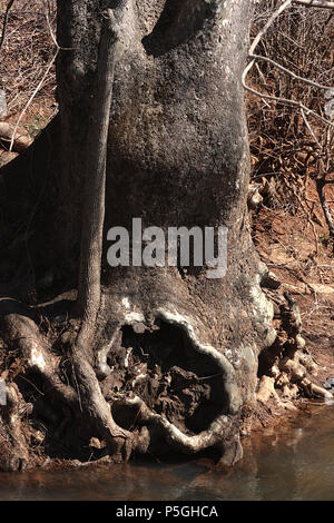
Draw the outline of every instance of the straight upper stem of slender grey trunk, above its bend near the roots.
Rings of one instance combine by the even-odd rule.
[[[86,149],[78,305],[84,318],[77,344],[89,344],[100,306],[102,231],[106,197],[106,156],[115,63],[121,53],[120,27],[114,12],[104,13],[96,89]]]

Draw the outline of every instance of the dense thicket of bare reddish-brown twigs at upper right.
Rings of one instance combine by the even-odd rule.
[[[279,4],[278,0],[259,1],[253,38]],[[333,37],[333,10],[296,6],[275,20],[256,53],[298,77],[331,87],[334,86]],[[302,102],[331,119],[330,98],[334,98],[334,92],[296,80],[266,60],[256,60],[248,85],[265,95]],[[293,210],[298,206],[294,196],[305,197],[307,177],[318,178],[325,170],[325,176],[331,178],[333,128],[312,115],[303,115],[297,107],[252,93],[248,93],[248,107],[253,179],[261,181],[265,177],[272,181],[279,205]],[[275,205],[275,198],[268,204]]]

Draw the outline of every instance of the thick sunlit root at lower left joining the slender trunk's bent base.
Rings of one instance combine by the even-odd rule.
[[[98,435],[106,438],[110,452],[117,456],[118,450],[124,446],[124,440],[131,440],[131,435],[112,421],[110,406],[106,403],[96,374],[85,359],[85,355],[76,352],[70,355],[75,388],[66,385],[59,375],[60,357],[51,353],[48,341],[39,332],[36,323],[27,316],[29,310],[14,300],[2,300],[1,304],[1,327],[7,345],[16,347],[26,369],[42,378],[48,396],[70,407],[72,412],[78,409],[87,412],[96,424]],[[7,310],[6,304],[9,306]],[[13,312],[18,309],[20,313]]]

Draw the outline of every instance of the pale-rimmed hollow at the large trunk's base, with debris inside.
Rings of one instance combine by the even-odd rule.
[[[129,308],[128,300],[124,303]],[[242,456],[242,398],[234,366],[223,353],[203,344],[196,320],[174,306],[156,308],[151,316],[145,325],[141,313],[127,312],[110,344],[97,354],[106,387],[116,385],[121,396],[112,403],[117,422],[141,427],[134,438],[135,452],[160,453],[165,446],[195,454],[215,447],[225,464],[233,464]]]

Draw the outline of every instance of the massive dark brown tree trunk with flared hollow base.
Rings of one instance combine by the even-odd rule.
[[[122,10],[120,30],[126,29],[114,77],[101,296],[94,336],[85,351],[78,349],[73,319],[68,348],[50,352],[50,341],[28,313],[3,300],[3,338],[8,347],[16,342],[29,381],[43,388],[32,417],[42,418],[49,433],[63,422],[57,437],[48,440],[53,454],[57,440],[71,450],[69,455],[82,458],[82,448],[95,436],[106,442],[105,452],[115,460],[136,451],[195,453],[215,447],[230,464],[240,457],[240,420],[254,404],[258,354],[275,338],[246,208],[249,162],[240,78],[254,2],[109,3],[116,17]],[[81,205],[82,174],[90,176],[88,126],[98,92],[98,4],[58,0],[58,39],[65,50],[57,65],[60,114],[50,132],[52,147],[58,137],[60,145],[53,154],[41,144],[50,151],[53,171],[35,220],[41,237],[49,238],[47,254],[40,255],[43,268],[69,268],[78,257],[81,214],[87,211],[87,204]],[[39,150],[38,144],[35,147]],[[32,161],[28,152],[37,184],[47,156],[38,152]],[[20,161],[2,172],[7,196],[12,178],[27,190],[27,157]],[[17,196],[21,215],[31,210],[23,195]],[[27,200],[35,201],[36,193]],[[6,209],[12,218],[8,205]],[[132,218],[166,234],[173,226],[228,227],[226,275],[207,278],[207,267],[194,266],[111,268],[107,231],[112,226],[131,230]],[[6,228],[7,236],[11,230]],[[27,387],[12,388],[12,408],[19,412],[29,393]],[[51,412],[46,415],[48,397],[57,403],[48,405]],[[7,427],[12,441],[18,438],[20,427],[3,423],[2,431]],[[24,451],[22,442],[12,445],[13,467],[27,460],[20,448]]]

